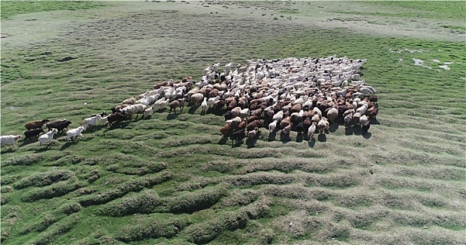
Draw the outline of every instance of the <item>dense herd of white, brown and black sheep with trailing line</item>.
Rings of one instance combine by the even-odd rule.
[[[71,121],[66,119],[26,123],[25,141],[37,138],[42,147],[65,129],[70,141],[82,137],[82,132],[91,125],[113,126],[131,120],[135,114],[146,118],[167,106],[169,113],[176,113],[177,109],[182,113],[185,104],[200,106],[201,114],[207,111],[223,114],[226,122],[220,132],[231,137],[232,144],[245,137],[256,138],[262,127],[270,133],[281,130],[287,137],[295,130],[306,135],[308,141],[314,139],[316,132],[328,131],[331,123],[344,123],[345,128],[357,125],[365,134],[378,113],[376,90],[360,79],[363,76],[360,68],[365,62],[336,55],[257,59],[236,66],[231,62],[224,66],[224,71],[217,63],[207,67],[197,83],[189,76],[158,83],[153,90],[112,107],[110,115],[105,111],[93,114],[71,130],[68,130]],[[48,128],[47,133],[43,125]],[[15,146],[20,138],[22,135],[1,136],[1,146]]]

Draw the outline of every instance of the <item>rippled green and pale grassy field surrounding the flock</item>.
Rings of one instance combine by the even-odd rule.
[[[368,59],[380,112],[364,137],[332,125],[310,143],[263,129],[232,148],[195,106],[20,139],[1,149],[1,243],[464,244],[465,6],[2,1],[1,135],[264,57]]]

